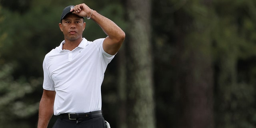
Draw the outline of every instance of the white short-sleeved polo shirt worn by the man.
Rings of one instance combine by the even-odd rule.
[[[104,38],[82,42],[74,50],[60,43],[43,62],[45,90],[56,91],[54,115],[101,110],[101,84],[114,56],[103,50]]]

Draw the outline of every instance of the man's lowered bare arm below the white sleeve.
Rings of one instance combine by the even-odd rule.
[[[39,104],[39,117],[37,128],[47,128],[53,115],[53,104],[55,91],[44,90],[42,99]]]

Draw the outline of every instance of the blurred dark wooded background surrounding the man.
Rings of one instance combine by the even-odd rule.
[[[0,0],[1,128],[36,127],[44,56],[80,3],[126,32],[102,84],[111,128],[256,127],[255,0]]]

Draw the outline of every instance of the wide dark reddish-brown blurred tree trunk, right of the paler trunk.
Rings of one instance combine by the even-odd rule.
[[[200,4],[199,4],[200,5]],[[200,5],[203,6],[203,5]],[[210,15],[176,14],[179,128],[213,128],[213,66]],[[200,24],[200,26],[198,25]],[[198,25],[198,26],[197,26]]]

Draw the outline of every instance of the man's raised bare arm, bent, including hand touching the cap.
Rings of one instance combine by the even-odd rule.
[[[111,55],[118,52],[124,41],[125,33],[113,21],[90,9],[86,4],[78,4],[70,12],[94,20],[108,35],[103,42],[104,51]]]

